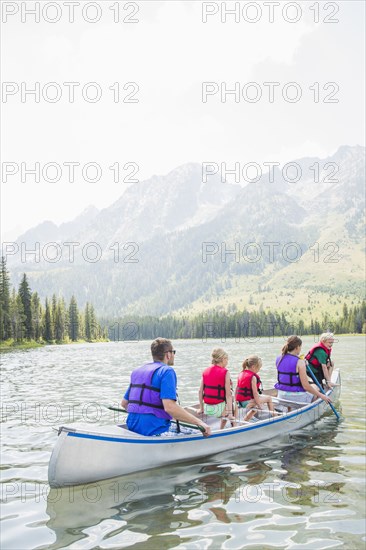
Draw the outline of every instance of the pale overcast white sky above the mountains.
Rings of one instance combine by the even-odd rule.
[[[24,11],[35,2],[1,4],[3,240],[109,206],[129,174],[364,145],[362,1],[226,2],[238,22],[222,21],[222,2],[40,2],[39,22]],[[73,103],[65,82],[79,83]],[[39,102],[24,93],[37,86]],[[237,95],[221,95],[225,86]],[[24,170],[22,181],[21,163],[36,162],[40,181]],[[90,165],[83,178],[87,163],[100,173]]]

